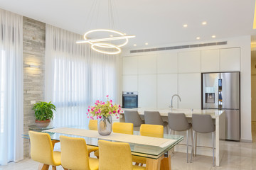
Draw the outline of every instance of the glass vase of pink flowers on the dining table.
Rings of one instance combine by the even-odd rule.
[[[120,105],[113,104],[108,97],[107,95],[106,102],[97,100],[95,106],[89,106],[88,113],[86,113],[87,118],[97,118],[97,129],[100,135],[110,135],[112,132],[112,116],[119,118],[121,112]]]

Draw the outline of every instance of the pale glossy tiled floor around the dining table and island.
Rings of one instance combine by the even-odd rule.
[[[171,157],[172,170],[215,170],[215,169],[256,169],[256,143],[225,142],[225,151],[219,167],[213,167],[212,157],[200,156],[193,158],[193,163],[186,163],[186,154],[176,152]],[[0,166],[0,170],[38,169],[38,163],[24,159],[18,163]],[[58,169],[62,169],[58,167]]]

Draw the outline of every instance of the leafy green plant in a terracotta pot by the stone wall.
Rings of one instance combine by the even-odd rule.
[[[39,101],[34,104],[32,110],[35,111],[36,126],[46,128],[50,124],[50,119],[53,119],[53,110],[56,111],[56,107],[51,102]]]

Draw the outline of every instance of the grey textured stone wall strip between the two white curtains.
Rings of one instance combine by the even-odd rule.
[[[45,99],[46,23],[23,17],[24,133],[35,125],[31,101]],[[24,157],[29,156],[29,141],[24,139]]]

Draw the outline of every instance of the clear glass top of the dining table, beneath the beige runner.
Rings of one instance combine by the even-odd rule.
[[[68,126],[65,128],[78,128],[78,129],[86,129],[88,130],[87,127],[78,127],[78,126]],[[84,138],[87,145],[95,146],[97,147],[98,144],[98,138],[94,137],[82,137],[78,135],[66,135],[63,133],[56,133],[56,132],[47,132],[50,135],[50,138],[52,140],[60,140],[60,136],[68,136],[68,137],[81,137]],[[138,131],[134,131],[134,135],[139,135]],[[23,138],[29,139],[28,134],[23,134]],[[131,152],[132,155],[140,156],[140,157],[146,157],[146,158],[151,158],[151,159],[158,159],[161,157],[163,154],[166,152],[169,152],[171,148],[173,148],[175,145],[177,145],[181,140],[183,140],[183,136],[181,135],[168,135],[164,134],[164,138],[174,140],[171,144],[169,144],[166,147],[156,147],[156,146],[150,146],[150,145],[139,145],[135,143],[129,143],[131,147]],[[119,142],[119,141],[115,141]]]

